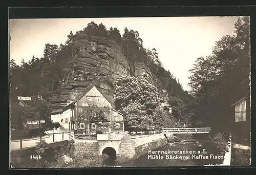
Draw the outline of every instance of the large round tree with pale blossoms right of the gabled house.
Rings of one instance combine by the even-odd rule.
[[[128,125],[141,128],[153,124],[154,110],[160,98],[157,88],[137,77],[121,77],[116,82],[115,104]]]

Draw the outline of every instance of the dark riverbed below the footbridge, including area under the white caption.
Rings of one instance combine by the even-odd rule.
[[[224,155],[216,152],[216,147],[208,140],[195,139],[193,135],[173,138],[162,147],[142,151],[143,154],[138,158],[108,160],[104,163],[118,167],[204,166],[223,163]]]

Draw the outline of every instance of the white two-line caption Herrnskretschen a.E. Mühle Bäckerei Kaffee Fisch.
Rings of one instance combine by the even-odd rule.
[[[206,149],[202,150],[148,150],[148,160],[163,159],[224,159],[222,155],[207,154]]]

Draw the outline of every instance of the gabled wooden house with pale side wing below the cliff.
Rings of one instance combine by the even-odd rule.
[[[90,103],[96,104],[99,107],[108,106],[110,108],[110,113],[106,119],[115,123],[115,127],[112,128],[112,131],[124,131],[123,115],[112,108],[110,100],[106,98],[96,86],[87,88],[82,95],[78,96],[74,101],[63,107],[61,110],[53,111],[51,113],[51,120],[59,122],[63,128],[71,130],[84,129],[84,133],[96,132],[99,124],[90,123],[87,126],[84,126],[84,123],[78,122],[79,114],[82,112],[83,108]],[[109,130],[109,128],[101,128],[101,130]]]

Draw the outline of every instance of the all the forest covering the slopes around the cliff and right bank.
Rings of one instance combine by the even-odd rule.
[[[23,59],[20,65],[17,65],[13,59],[10,60],[11,124],[22,128],[21,121],[36,119],[38,115],[41,115],[42,119],[50,116],[52,110],[50,98],[59,94],[62,83],[73,71],[79,52],[74,44],[77,35],[86,34],[114,40],[127,58],[131,76],[119,79],[115,84],[117,95],[115,100],[119,100],[116,104],[122,105],[117,105],[117,108],[126,114],[127,123],[143,127],[152,124],[159,127],[174,127],[183,124],[211,125],[210,122],[214,119],[206,113],[210,113],[212,99],[217,98],[218,91],[220,91],[215,82],[232,69],[239,59],[249,57],[249,19],[239,19],[234,24],[234,29],[237,35],[223,36],[216,42],[212,55],[197,59],[194,68],[190,70],[192,74],[189,77],[191,92],[188,93],[183,90],[179,80],[176,80],[170,73],[171,70],[166,71],[163,68],[157,50],[144,48],[138,31],[125,28],[121,36],[117,28],[111,27],[107,30],[103,24],[97,25],[92,21],[83,30],[75,34],[70,32],[64,45],[47,43],[44,56],[41,58],[33,56],[28,62]],[[138,63],[143,63],[150,69],[154,76],[153,84],[145,85],[147,82],[136,79],[135,72]],[[121,91],[124,84],[131,86],[137,84],[136,87],[142,91],[136,92],[136,97],[127,96]],[[163,102],[159,95],[162,90],[166,90],[168,94],[167,102],[172,106],[172,111],[158,107]],[[40,102],[36,100],[38,94],[42,95]],[[148,94],[151,94],[155,100],[147,101],[146,104],[145,100],[138,98],[138,95],[141,97]],[[127,98],[121,98],[125,95]],[[22,110],[17,103],[17,96],[32,97],[28,103],[31,107]],[[131,111],[136,111],[133,107],[138,113],[131,113]],[[140,117],[136,118],[136,116]],[[148,119],[147,123],[145,123],[145,118]]]

